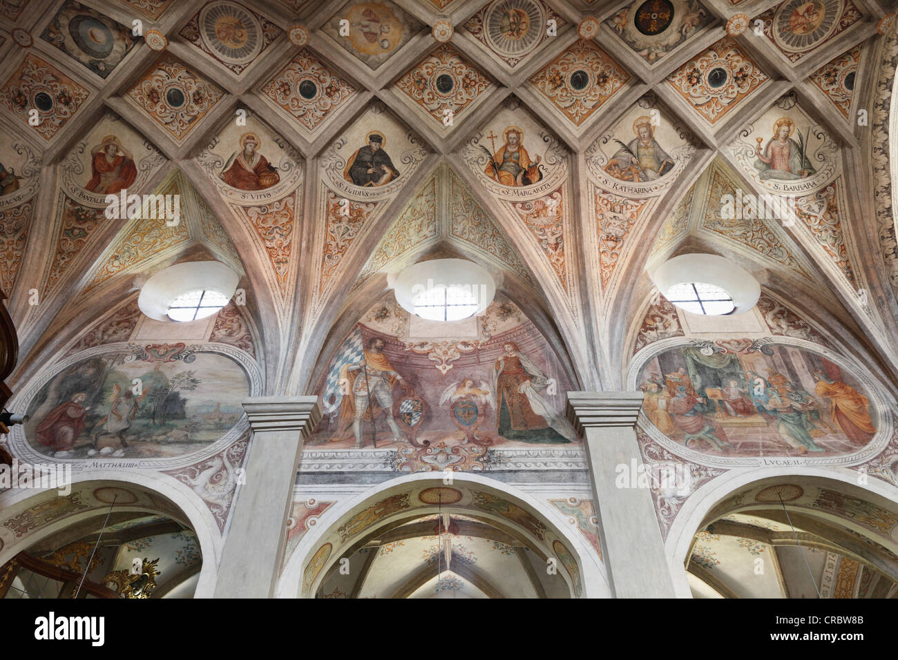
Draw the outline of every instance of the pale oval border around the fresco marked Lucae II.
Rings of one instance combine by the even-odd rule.
[[[642,348],[636,355],[632,357],[627,371],[627,390],[629,392],[638,391],[639,376],[648,362],[656,356],[664,353],[670,348],[679,348],[686,346],[705,346],[709,342],[707,339],[682,338],[674,337],[671,339],[662,339],[647,347]],[[668,452],[684,458],[688,461],[716,468],[758,468],[758,467],[795,467],[795,466],[831,466],[831,467],[849,467],[858,465],[859,463],[869,461],[877,454],[881,453],[887,444],[889,444],[894,434],[894,419],[887,404],[887,397],[881,385],[876,382],[865,367],[859,365],[853,359],[842,356],[839,353],[825,348],[812,341],[806,339],[795,339],[791,337],[765,337],[763,339],[755,339],[753,347],[762,348],[770,345],[783,345],[795,348],[802,348],[811,352],[815,352],[825,357],[834,364],[846,369],[860,382],[866,392],[864,392],[873,406],[876,408],[876,435],[864,447],[853,453],[843,453],[838,456],[827,456],[820,458],[808,457],[806,454],[802,456],[770,456],[770,457],[742,457],[729,458],[726,456],[716,456],[714,454],[698,452],[689,449],[665,436],[651,421],[646,417],[644,410],[639,410],[638,426],[639,428],[657,444],[660,444]]]

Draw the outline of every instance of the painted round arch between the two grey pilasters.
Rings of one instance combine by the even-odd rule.
[[[403,516],[407,517],[409,513],[435,514],[437,507],[423,503],[418,497],[428,488],[446,488],[447,492],[448,489],[460,492],[462,497],[456,500],[459,505],[444,505],[444,509],[453,507],[453,511],[466,511],[469,514],[478,511],[471,506],[474,493],[486,495],[487,501],[489,496],[502,497],[530,516],[530,520],[519,516],[519,520],[524,520],[522,525],[506,515],[481,510],[484,519],[494,520],[507,530],[519,534],[544,558],[558,557],[558,551],[551,550],[557,543],[568,550],[573,565],[558,558],[558,574],[568,583],[571,597],[611,597],[611,587],[601,560],[585,539],[573,535],[563,524],[559,524],[558,514],[553,513],[549,506],[498,480],[471,473],[454,473],[452,483],[445,484],[442,475],[443,473],[435,476],[432,473],[418,472],[384,481],[378,487],[366,490],[322,515],[313,532],[305,535],[293,555],[287,559],[275,592],[277,597],[312,597],[328,569],[357,541]],[[364,520],[359,515],[366,511],[372,511],[379,517],[353,532],[359,521]],[[374,513],[381,511],[383,515]],[[341,530],[350,533],[343,533],[344,540],[339,542],[339,546],[335,546],[334,541],[340,537]],[[317,568],[310,568],[313,562]]]

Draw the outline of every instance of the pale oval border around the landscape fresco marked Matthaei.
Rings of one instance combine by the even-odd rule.
[[[102,356],[109,353],[119,353],[122,355],[136,355],[136,351],[142,347],[134,342],[118,342],[115,344],[104,344],[86,348],[63,360],[59,360],[48,368],[44,369],[40,374],[31,379],[31,382],[13,397],[9,405],[14,408],[27,409],[31,405],[31,401],[37,396],[40,389],[49,383],[57,374],[72,365],[84,361],[90,357]],[[262,392],[262,372],[258,363],[249,353],[240,348],[235,348],[228,344],[218,344],[215,342],[204,342],[191,344],[186,347],[194,353],[211,353],[231,358],[239,365],[243,374],[246,375],[247,384],[249,385],[248,396],[259,396]],[[9,434],[9,444],[13,449],[13,455],[22,462],[32,463],[67,463],[72,466],[72,471],[84,471],[97,469],[97,463],[100,462],[104,467],[114,468],[116,464],[121,464],[128,469],[141,470],[172,470],[175,468],[187,467],[198,461],[206,460],[216,453],[221,452],[226,447],[233,444],[235,440],[240,438],[248,427],[246,416],[243,415],[233,427],[229,428],[216,441],[208,444],[208,446],[198,452],[185,453],[172,458],[112,458],[110,456],[96,456],[92,458],[54,458],[45,453],[40,453],[31,446],[25,435],[24,425],[16,425]]]

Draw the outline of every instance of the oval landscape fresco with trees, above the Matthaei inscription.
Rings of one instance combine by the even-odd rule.
[[[246,374],[225,356],[172,354],[179,346],[66,367],[31,401],[29,444],[56,458],[165,458],[215,442],[242,415]]]

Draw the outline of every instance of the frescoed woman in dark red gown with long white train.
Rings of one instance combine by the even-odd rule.
[[[503,348],[505,355],[496,360],[491,374],[499,435],[525,443],[573,442],[574,427],[542,397],[549,379],[515,343]]]

